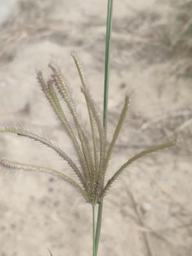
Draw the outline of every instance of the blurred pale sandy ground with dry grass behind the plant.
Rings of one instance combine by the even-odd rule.
[[[83,63],[102,110],[107,0],[0,0],[0,124],[47,134],[72,152],[36,81],[60,65],[86,118],[70,51]],[[131,106],[108,175],[143,148],[177,146],[146,157],[122,175],[104,202],[99,255],[192,255],[192,1],[114,1],[109,138]],[[0,156],[67,172],[51,150],[0,134]],[[92,209],[49,175],[0,166],[0,255],[92,254]]]

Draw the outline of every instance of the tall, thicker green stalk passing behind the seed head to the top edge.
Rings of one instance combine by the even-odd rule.
[[[113,0],[108,0],[108,17],[106,25],[106,54],[105,54],[105,74],[104,74],[104,108],[103,108],[103,127],[107,134],[108,123],[108,95],[109,95],[109,70],[110,70],[110,54],[111,54],[111,30],[113,17]],[[100,202],[97,215],[97,228],[95,232],[95,255],[97,256],[100,238],[100,228],[102,223],[102,206]]]

